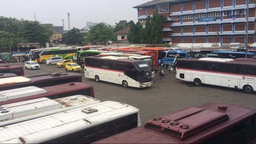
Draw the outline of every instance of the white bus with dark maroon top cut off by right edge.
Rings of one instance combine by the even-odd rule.
[[[226,58],[182,58],[177,60],[176,79],[194,82],[196,86],[211,84],[253,93],[256,91],[256,64]]]

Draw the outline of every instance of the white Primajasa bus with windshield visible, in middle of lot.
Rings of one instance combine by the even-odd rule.
[[[85,77],[93,78],[96,82],[102,80],[122,84],[125,88],[153,85],[153,70],[144,60],[99,55],[84,57]]]

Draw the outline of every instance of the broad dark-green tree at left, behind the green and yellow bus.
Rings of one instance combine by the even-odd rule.
[[[50,27],[41,25],[37,21],[22,20],[19,28],[19,37],[25,37],[28,43],[40,43],[43,47],[46,46],[45,42],[49,40],[49,37],[54,34]]]

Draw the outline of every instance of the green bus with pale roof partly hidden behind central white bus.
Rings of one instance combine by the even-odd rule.
[[[85,50],[85,51],[78,51],[76,53],[76,63],[84,68],[84,57],[94,56],[98,55],[103,52],[109,52],[109,51],[103,51],[103,50]]]

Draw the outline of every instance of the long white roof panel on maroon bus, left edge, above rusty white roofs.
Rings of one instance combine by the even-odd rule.
[[[14,100],[19,98],[24,98],[32,95],[47,93],[44,89],[35,87],[35,86],[27,86],[17,89],[0,91],[0,102],[7,100]]]

